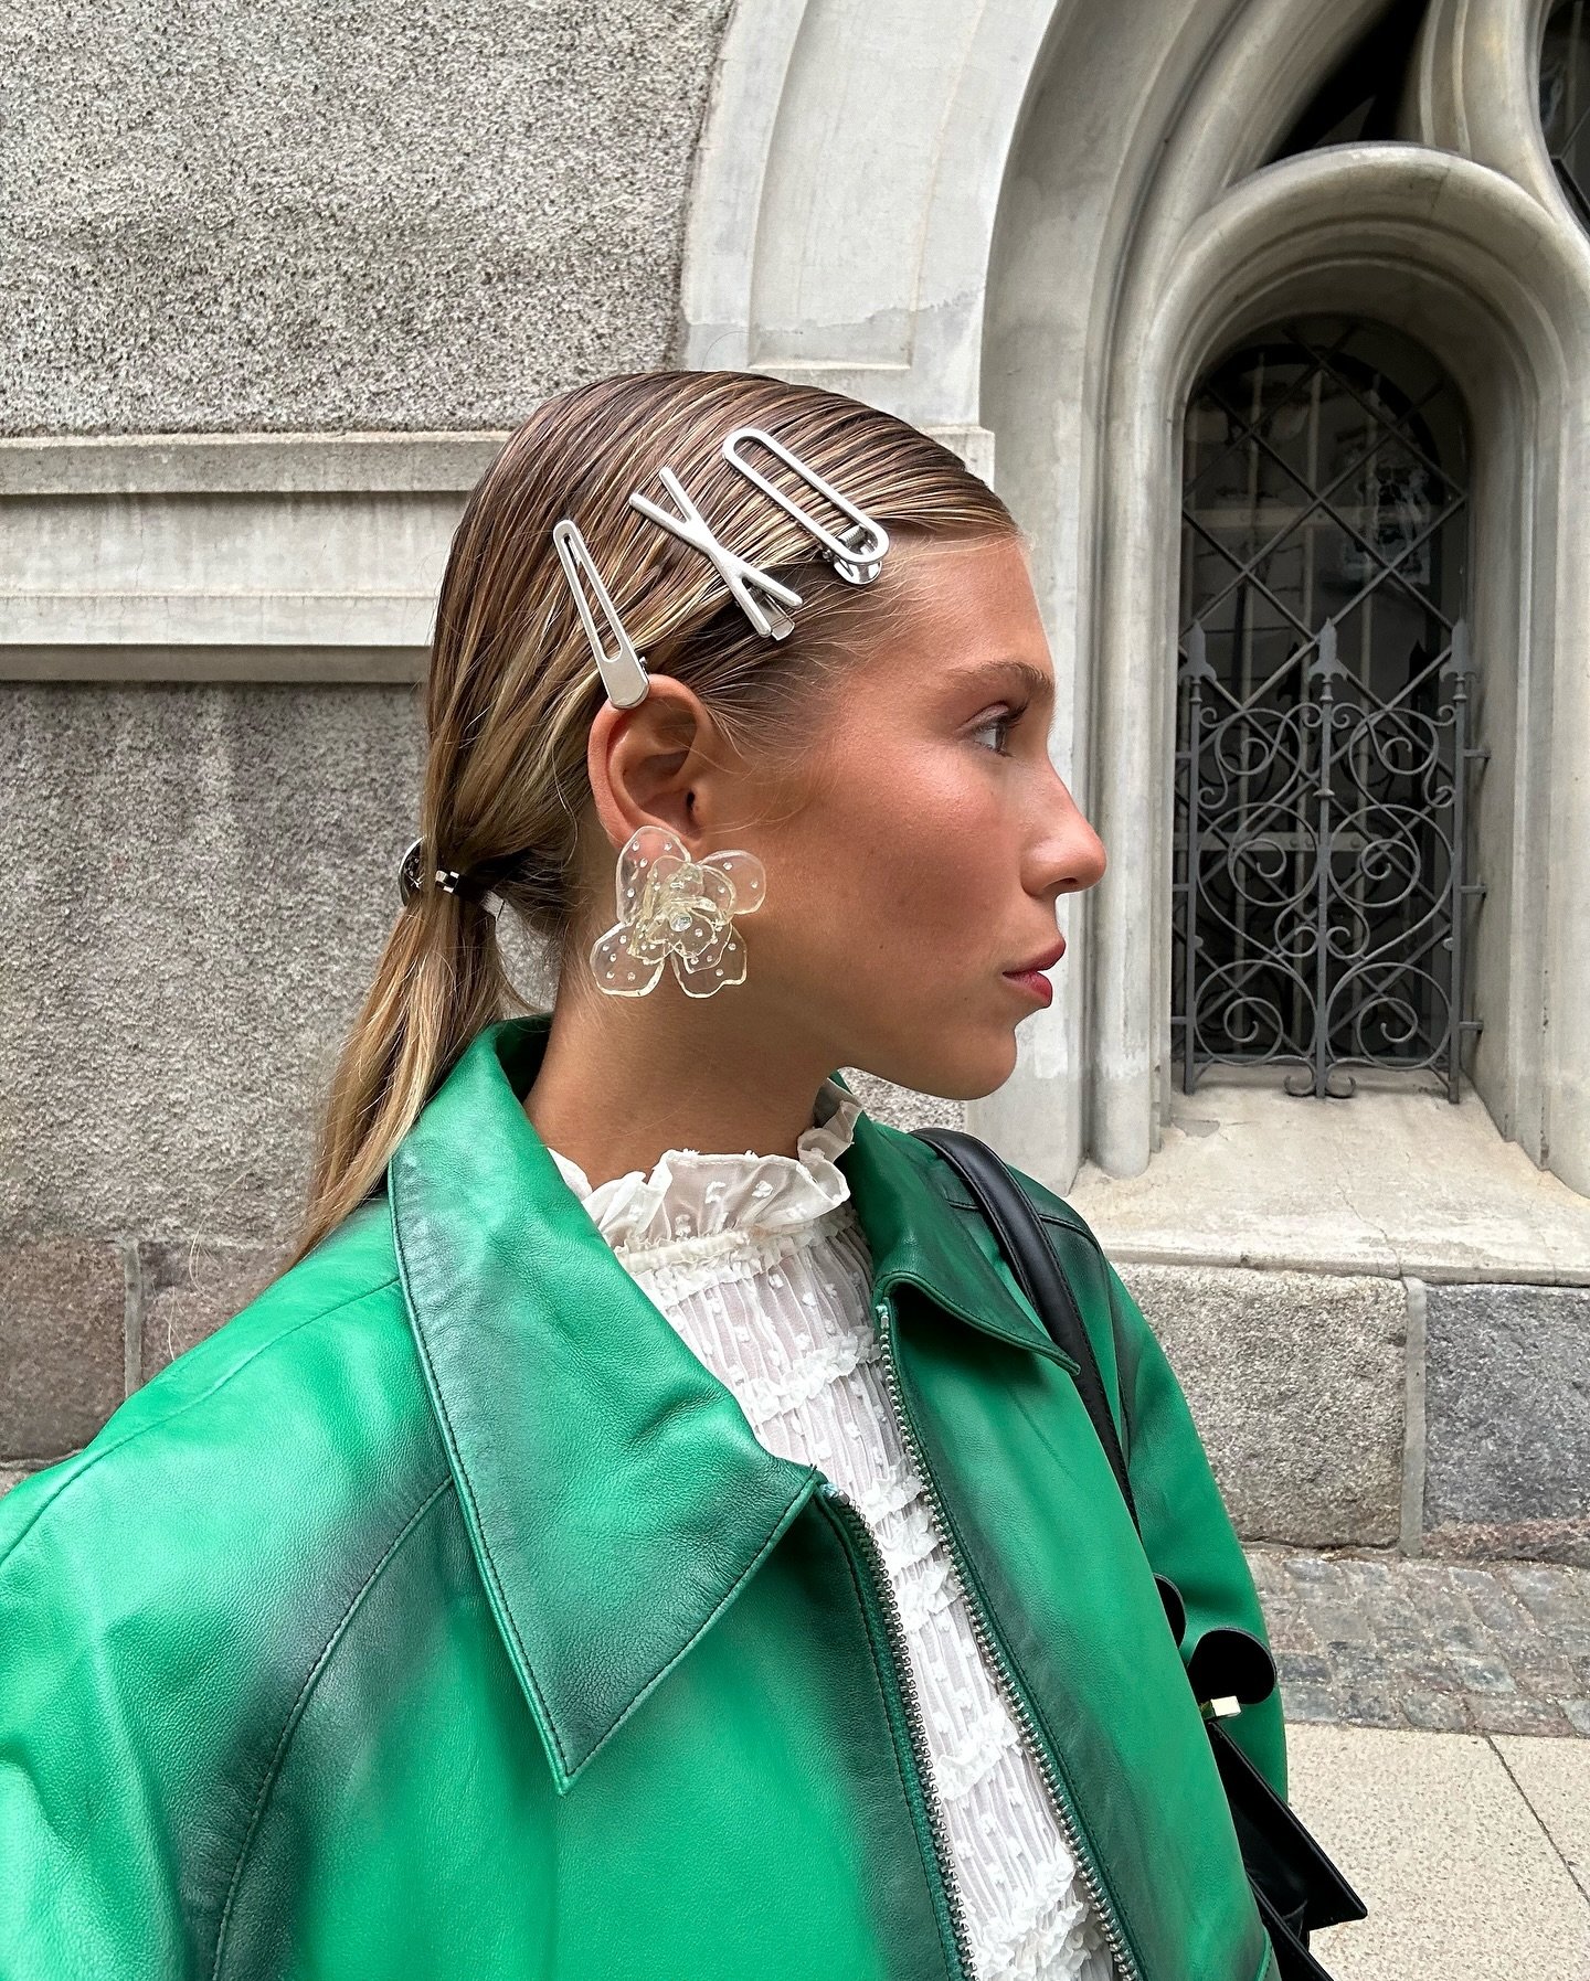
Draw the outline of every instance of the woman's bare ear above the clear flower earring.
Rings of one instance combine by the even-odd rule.
[[[666,674],[650,678],[646,699],[632,709],[603,701],[585,769],[609,842],[623,846],[636,826],[656,824],[696,850],[726,812],[728,757],[706,703]]]

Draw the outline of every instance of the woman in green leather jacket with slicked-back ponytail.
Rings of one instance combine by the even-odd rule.
[[[902,422],[650,372],[510,440],[299,1256],[0,1508],[10,1981],[1271,1971],[1184,1670],[1263,1620],[1166,1359],[1110,1274],[1140,1543],[835,1078],[1009,1076],[1104,868],[1051,715],[1005,507]]]

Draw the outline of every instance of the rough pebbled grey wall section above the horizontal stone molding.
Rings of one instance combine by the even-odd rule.
[[[666,363],[728,12],[12,12],[0,432],[498,428]]]

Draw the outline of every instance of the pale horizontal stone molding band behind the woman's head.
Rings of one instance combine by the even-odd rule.
[[[412,681],[502,434],[0,440],[0,676]]]

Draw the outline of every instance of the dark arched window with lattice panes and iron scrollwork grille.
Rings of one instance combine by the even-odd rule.
[[[1277,1064],[1457,1099],[1473,739],[1463,408],[1425,351],[1312,317],[1186,424],[1172,1032],[1188,1092]]]

